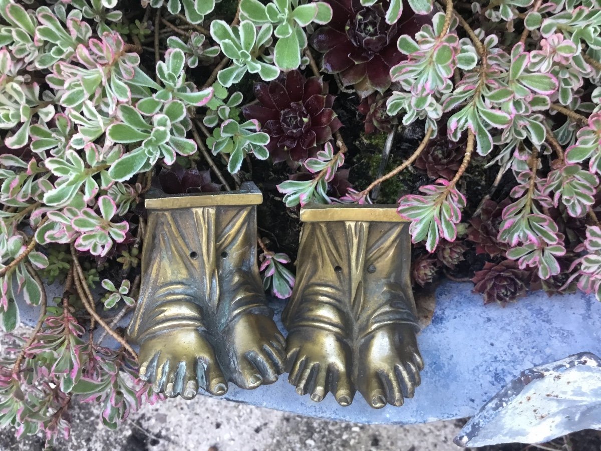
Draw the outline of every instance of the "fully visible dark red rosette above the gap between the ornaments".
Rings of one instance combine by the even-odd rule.
[[[254,94],[259,105],[247,105],[242,113],[269,135],[266,147],[274,163],[304,162],[342,126],[332,109],[335,96],[319,77],[305,79],[291,70],[269,84],[255,84]]]

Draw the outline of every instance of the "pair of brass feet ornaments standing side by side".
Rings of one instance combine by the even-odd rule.
[[[284,371],[315,401],[331,392],[349,405],[359,391],[380,408],[412,397],[423,363],[409,236],[394,209],[304,209],[284,340],[258,274],[260,201],[252,183],[147,199],[141,298],[128,329],[140,346],[140,377],[185,399],[199,388],[222,395],[228,382],[271,384]]]

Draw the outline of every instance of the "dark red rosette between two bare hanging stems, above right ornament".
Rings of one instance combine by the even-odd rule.
[[[426,171],[430,179],[451,180],[459,170],[463,155],[465,155],[465,141],[455,143],[447,138],[447,133],[441,130],[436,138],[419,154],[415,160],[415,167]]]

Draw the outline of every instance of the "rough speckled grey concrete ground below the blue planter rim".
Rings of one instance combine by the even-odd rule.
[[[463,422],[415,426],[356,425],[198,396],[146,405],[117,431],[99,420],[94,405],[74,403],[72,437],[56,451],[296,451],[459,450],[453,437]],[[0,430],[0,450],[41,451],[41,438],[16,441]]]

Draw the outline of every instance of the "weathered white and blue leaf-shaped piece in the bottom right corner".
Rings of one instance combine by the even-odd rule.
[[[601,359],[588,352],[520,373],[469,420],[455,443],[540,443],[582,429],[601,429]]]

